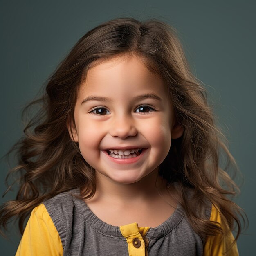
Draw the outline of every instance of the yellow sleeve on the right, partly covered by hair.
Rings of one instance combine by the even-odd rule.
[[[220,223],[221,226],[221,218],[220,213],[217,209],[212,206],[211,209],[211,221],[216,221]],[[227,234],[227,236],[222,236],[218,234],[216,236],[209,236],[204,245],[204,254],[203,256],[238,256],[238,249],[236,243],[232,246],[232,248],[224,254],[224,252],[231,246],[234,241],[234,236],[231,231]]]

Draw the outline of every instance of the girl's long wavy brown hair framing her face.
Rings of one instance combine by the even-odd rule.
[[[77,92],[87,70],[95,61],[117,54],[135,54],[162,77],[175,116],[184,128],[182,137],[172,140],[159,166],[167,189],[174,182],[180,184],[180,204],[202,238],[225,233],[204,214],[207,202],[211,202],[220,211],[223,227],[237,227],[237,239],[243,226],[240,217],[243,222],[245,218],[230,199],[239,189],[227,170],[220,167],[220,155],[226,155],[227,166],[232,164],[233,169],[236,162],[215,124],[204,86],[189,69],[175,29],[157,19],[140,22],[117,18],[90,30],[50,76],[43,96],[25,108],[34,111],[39,106],[24,129],[24,137],[11,150],[17,153],[19,162],[9,171],[7,180],[13,176],[19,190],[16,200],[2,205],[0,227],[6,229],[8,220],[16,218],[22,234],[29,213],[44,200],[74,188],[85,188],[81,195],[85,199],[94,195],[95,170],[83,159],[68,127],[74,123]],[[7,191],[12,185],[7,183]],[[189,199],[188,190],[193,191]]]

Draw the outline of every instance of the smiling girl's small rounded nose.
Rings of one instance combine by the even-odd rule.
[[[115,117],[115,119],[112,121],[109,133],[112,137],[119,137],[120,139],[125,139],[128,136],[137,135],[137,129],[135,127],[135,122],[132,117],[122,115]]]

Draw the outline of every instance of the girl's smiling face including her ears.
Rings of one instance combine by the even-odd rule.
[[[183,132],[164,82],[136,56],[115,56],[89,69],[74,118],[71,132],[85,161],[96,175],[123,184],[158,171],[171,138]]]

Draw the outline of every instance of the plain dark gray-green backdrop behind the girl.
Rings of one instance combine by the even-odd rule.
[[[22,135],[22,108],[86,31],[116,17],[160,18],[179,31],[193,72],[215,102],[244,177],[236,202],[247,213],[249,229],[240,236],[238,249],[240,255],[256,255],[255,7],[248,0],[1,1],[0,156]],[[0,164],[2,194],[7,166]],[[0,238],[1,255],[13,255],[19,240],[11,226],[9,240]]]

